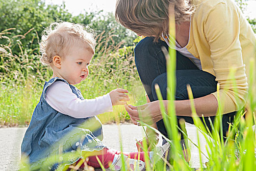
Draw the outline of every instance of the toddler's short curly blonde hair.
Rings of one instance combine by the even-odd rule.
[[[95,53],[96,41],[92,29],[82,24],[56,21],[43,33],[40,44],[40,61],[50,65],[56,55],[65,58],[74,45]]]

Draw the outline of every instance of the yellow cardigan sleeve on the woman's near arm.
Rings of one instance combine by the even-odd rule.
[[[204,23],[216,81],[220,84],[220,100],[223,113],[239,110],[245,105],[248,94],[245,64],[243,64],[239,16],[226,3],[217,4],[207,15]],[[234,78],[230,70],[235,70]],[[217,98],[217,92],[212,93]]]

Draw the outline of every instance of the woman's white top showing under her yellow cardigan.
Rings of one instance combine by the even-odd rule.
[[[190,21],[191,21],[191,18],[190,18]],[[190,22],[191,23],[191,22]],[[189,38],[188,38],[188,42],[189,42],[189,39],[190,39],[190,26],[191,24],[189,24]],[[170,46],[169,42],[170,42],[170,39],[173,39],[170,35],[169,36],[163,36],[162,34],[162,37],[164,39],[164,41],[168,44],[169,47],[173,47],[173,46]],[[201,65],[201,61],[200,59],[197,59],[196,57],[194,57],[186,48],[187,44],[184,46],[184,47],[181,47],[179,45],[179,43],[176,41],[176,40],[173,40],[175,41],[175,50],[179,51],[179,53],[187,58],[190,58],[191,61],[200,69],[202,70],[202,65]]]

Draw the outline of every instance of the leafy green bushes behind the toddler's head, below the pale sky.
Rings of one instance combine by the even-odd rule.
[[[64,2],[61,5],[46,5],[45,0],[0,0],[0,32],[15,28],[9,32],[9,38],[12,39],[0,39],[0,44],[12,44],[12,52],[17,55],[21,47],[26,50],[38,48],[41,32],[56,20],[88,25],[95,30],[96,35],[102,32],[107,34],[111,30],[116,35],[112,41],[114,44],[125,40],[131,45],[135,38],[133,33],[115,21],[112,13],[83,11],[73,16]],[[21,41],[21,47],[18,40]]]

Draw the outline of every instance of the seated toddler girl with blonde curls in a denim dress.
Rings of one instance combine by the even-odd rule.
[[[95,44],[93,34],[80,24],[53,22],[43,32],[41,61],[50,65],[53,76],[45,82],[22,142],[22,154],[28,156],[30,170],[67,170],[78,163],[82,167],[81,159],[85,157],[94,168],[101,168],[100,163],[116,171],[122,168],[121,152],[102,143],[102,123],[96,115],[112,111],[112,106],[125,105],[128,90],[118,88],[88,100],[74,86],[88,76]],[[161,156],[168,148],[167,144],[157,152]],[[144,152],[124,154],[125,167],[144,169]],[[152,160],[153,152],[149,156]]]

